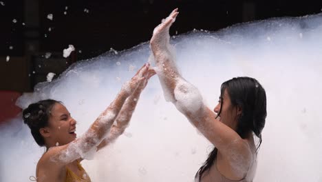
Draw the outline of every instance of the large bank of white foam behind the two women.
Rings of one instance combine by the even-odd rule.
[[[268,117],[254,181],[321,180],[322,14],[257,21],[213,33],[195,30],[171,41],[182,76],[211,108],[217,104],[221,83],[233,77],[255,77],[266,89]],[[115,78],[131,79],[129,64],[140,68],[149,54],[148,43],[143,43],[117,55],[110,52],[79,61],[57,80],[37,85],[39,91],[31,96],[23,95],[19,105],[25,108],[47,98],[63,101],[78,121],[78,133],[84,133],[120,90],[122,83]],[[116,65],[120,60],[122,64]],[[94,160],[83,161],[92,181],[120,181],[120,176],[133,182],[193,181],[213,145],[173,104],[163,97],[155,101],[161,92],[158,79],[151,78],[126,130],[131,137],[122,135]],[[86,103],[80,105],[80,99]],[[25,181],[25,176],[34,175],[43,154],[21,119],[14,123],[0,128],[0,143],[6,146],[0,150],[1,167],[6,166],[1,168],[3,181]],[[20,165],[13,168],[15,162]],[[12,175],[12,170],[19,175]]]

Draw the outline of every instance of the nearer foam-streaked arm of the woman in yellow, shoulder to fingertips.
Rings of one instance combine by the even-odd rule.
[[[129,98],[133,92],[136,92],[138,86],[146,80],[148,70],[149,65],[144,65],[130,81],[123,85],[116,96],[116,99],[114,99],[102,114],[100,114],[83,136],[67,145],[48,150],[43,156],[44,160],[49,159],[46,161],[59,167],[76,159],[85,158],[89,153],[96,152],[96,146],[98,146],[110,132],[111,126],[126,99]]]

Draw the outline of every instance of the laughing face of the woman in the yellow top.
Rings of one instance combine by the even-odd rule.
[[[48,141],[55,145],[65,145],[76,139],[76,121],[61,103],[55,103],[51,110],[47,132]]]

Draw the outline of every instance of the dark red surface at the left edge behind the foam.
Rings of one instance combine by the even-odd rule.
[[[20,92],[0,90],[0,123],[17,117],[21,112],[21,108],[15,104],[20,96]]]

